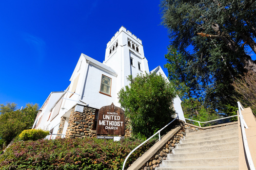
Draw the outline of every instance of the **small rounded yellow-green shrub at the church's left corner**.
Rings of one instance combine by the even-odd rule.
[[[42,129],[29,129],[24,130],[20,133],[19,140],[38,140],[46,137],[47,135],[49,135],[49,131],[45,131]]]

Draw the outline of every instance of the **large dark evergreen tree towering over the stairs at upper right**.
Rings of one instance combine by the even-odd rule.
[[[218,110],[235,105],[232,82],[244,71],[256,72],[250,57],[256,52],[255,0],[162,0],[161,10],[170,47],[182,57],[173,72],[185,76],[189,94]],[[166,67],[170,75],[173,68]]]

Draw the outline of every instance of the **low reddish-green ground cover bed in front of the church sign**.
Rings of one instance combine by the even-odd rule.
[[[96,138],[20,141],[0,156],[0,170],[121,170],[125,157],[141,142]],[[133,153],[126,168],[154,143]]]

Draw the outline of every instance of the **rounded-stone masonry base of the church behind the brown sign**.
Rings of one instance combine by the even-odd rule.
[[[96,109],[85,107],[83,112],[75,112],[75,107],[71,110],[69,124],[66,131],[67,138],[84,138],[97,137],[96,130],[93,130]],[[125,118],[125,136],[131,135],[131,128],[129,126],[130,120]]]

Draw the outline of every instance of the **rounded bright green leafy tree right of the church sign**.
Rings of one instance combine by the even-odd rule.
[[[174,87],[161,75],[140,74],[118,93],[125,115],[131,119],[132,133],[137,137],[150,137],[169,123],[175,113],[172,109],[176,97]]]

